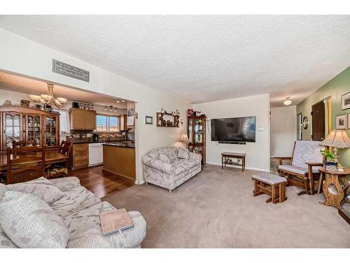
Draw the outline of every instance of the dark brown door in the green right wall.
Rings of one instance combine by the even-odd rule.
[[[325,139],[325,100],[311,107],[312,134],[311,140],[322,141]]]

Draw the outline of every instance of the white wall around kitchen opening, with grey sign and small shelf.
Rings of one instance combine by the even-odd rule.
[[[90,82],[53,73],[52,58],[88,70]],[[153,116],[155,123],[155,113],[159,112],[161,107],[165,107],[168,112],[179,109],[180,119],[185,121],[186,127],[186,109],[190,107],[189,102],[95,67],[4,29],[0,29],[0,70],[137,102],[135,106],[136,112],[139,112],[139,121],[135,125],[137,183],[143,182],[142,156],[154,147],[176,144],[183,131],[182,128],[146,125],[145,116]]]

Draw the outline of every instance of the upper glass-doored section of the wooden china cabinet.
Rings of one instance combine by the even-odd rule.
[[[36,141],[47,149],[59,147],[59,114],[19,106],[0,106],[1,151],[12,147],[13,140]]]

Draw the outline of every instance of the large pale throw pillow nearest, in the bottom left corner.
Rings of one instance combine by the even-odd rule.
[[[69,238],[66,225],[50,205],[20,191],[6,191],[0,224],[19,248],[66,248]]]

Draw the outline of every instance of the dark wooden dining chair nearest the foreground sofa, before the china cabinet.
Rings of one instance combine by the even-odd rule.
[[[45,147],[7,148],[6,154],[7,184],[27,182],[45,176]]]

